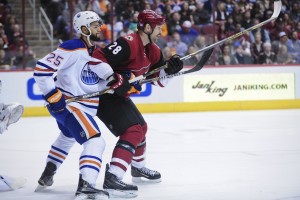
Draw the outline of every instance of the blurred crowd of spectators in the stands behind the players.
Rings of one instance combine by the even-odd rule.
[[[162,37],[157,42],[166,59],[173,54],[184,56],[193,53],[265,21],[273,14],[274,5],[273,0],[116,0],[111,17],[111,4],[108,0],[73,0],[73,5],[69,5],[67,0],[40,2],[54,26],[54,36],[63,41],[70,39],[72,35],[70,6],[73,7],[74,14],[83,10],[95,11],[104,21],[102,39],[97,44],[99,46],[111,42],[111,20],[114,24],[113,37],[116,39],[136,31],[139,11],[155,10],[166,17]],[[282,4],[281,13],[276,21],[216,48],[209,64],[299,64],[300,2],[282,0]],[[14,49],[12,54],[17,55],[20,49],[14,47],[14,44],[23,41],[14,41],[16,37],[12,35],[15,30],[20,32],[16,28],[18,24],[15,19],[9,17],[4,21],[1,17],[1,23],[2,26],[5,23],[6,27],[2,29],[2,35],[7,35],[7,39],[2,36],[2,49],[5,49],[6,45],[6,48]],[[199,58],[201,54],[187,59],[184,64],[194,65]]]

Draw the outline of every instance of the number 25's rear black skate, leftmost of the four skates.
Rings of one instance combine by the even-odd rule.
[[[38,180],[39,185],[35,189],[38,192],[53,184],[53,176],[56,172],[56,165],[52,162],[47,162],[47,165],[42,173],[41,178]]]

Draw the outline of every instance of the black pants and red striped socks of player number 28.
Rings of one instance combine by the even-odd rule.
[[[130,164],[144,167],[147,123],[131,99],[116,94],[102,95],[97,116],[119,136],[109,171],[122,179]]]

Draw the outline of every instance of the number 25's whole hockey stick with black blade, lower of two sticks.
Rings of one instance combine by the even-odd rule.
[[[184,74],[188,74],[188,73],[199,71],[205,65],[205,63],[207,62],[207,60],[211,56],[212,52],[213,52],[213,49],[205,51],[204,54],[203,54],[203,56],[201,57],[200,61],[192,69],[189,69],[189,70],[186,70],[186,71],[183,71],[183,72],[178,72],[178,73],[172,74],[172,75],[166,75],[166,76],[162,76],[162,77],[156,77],[156,78],[153,78],[153,79],[146,79],[144,81],[140,79],[140,81],[141,81],[140,83],[144,84],[144,83],[148,83],[148,82],[154,82],[154,81],[158,81],[158,80],[172,78],[174,76],[180,76],[180,75],[184,75]],[[134,82],[133,79],[129,80],[129,83],[133,83],[133,82]],[[74,101],[79,101],[79,100],[82,100],[82,99],[88,99],[88,98],[91,98],[91,97],[96,97],[96,96],[100,96],[102,94],[107,94],[107,93],[112,94],[113,92],[114,91],[112,89],[107,89],[107,90],[103,90],[103,91],[99,91],[99,92],[94,92],[94,93],[79,95],[79,96],[67,99],[66,103],[68,104],[68,103],[71,103],[71,102],[74,102]]]

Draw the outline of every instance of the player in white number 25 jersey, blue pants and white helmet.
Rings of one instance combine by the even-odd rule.
[[[100,39],[101,18],[92,11],[83,11],[74,16],[73,25],[80,39],[62,43],[40,59],[34,70],[47,108],[61,131],[51,146],[36,191],[53,184],[54,174],[78,142],[83,151],[79,159],[76,198],[108,199],[106,191],[95,188],[105,149],[105,141],[93,119],[99,100],[96,97],[67,105],[65,100],[108,88],[123,94],[130,85],[126,76],[114,73],[110,65],[91,57],[96,48],[94,42]]]

